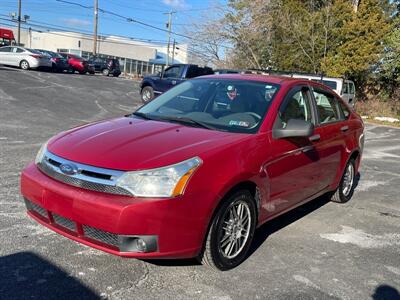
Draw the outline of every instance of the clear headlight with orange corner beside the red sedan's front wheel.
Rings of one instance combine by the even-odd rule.
[[[163,168],[126,172],[117,180],[117,186],[139,197],[176,197],[183,194],[201,163],[194,157]]]

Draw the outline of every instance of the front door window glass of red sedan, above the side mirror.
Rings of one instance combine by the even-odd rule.
[[[275,126],[285,128],[290,119],[312,121],[310,91],[307,87],[296,88],[288,93],[281,105]]]

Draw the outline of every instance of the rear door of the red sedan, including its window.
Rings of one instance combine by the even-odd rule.
[[[339,170],[346,147],[343,135],[348,126],[343,122],[336,96],[320,86],[312,89],[317,115],[313,145],[318,152],[320,170],[316,184],[322,190],[332,184]]]

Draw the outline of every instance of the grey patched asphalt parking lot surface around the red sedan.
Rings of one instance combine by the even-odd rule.
[[[400,299],[400,129],[367,125],[352,200],[262,226],[238,268],[115,257],[27,217],[19,173],[59,131],[141,105],[138,83],[0,66],[0,299]]]

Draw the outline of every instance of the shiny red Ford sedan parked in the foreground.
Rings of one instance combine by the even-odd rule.
[[[266,221],[326,193],[348,201],[362,150],[362,120],[322,84],[211,75],[51,138],[21,192],[33,219],[77,242],[226,270]]]

